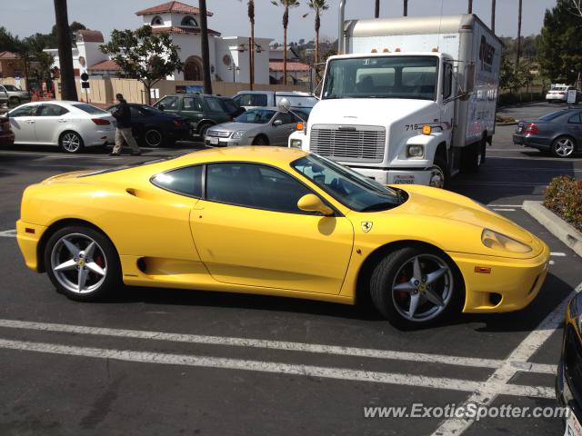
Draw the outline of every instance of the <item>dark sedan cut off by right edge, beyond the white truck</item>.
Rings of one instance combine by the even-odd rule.
[[[562,109],[517,124],[513,143],[549,151],[556,157],[582,152],[582,109]]]

